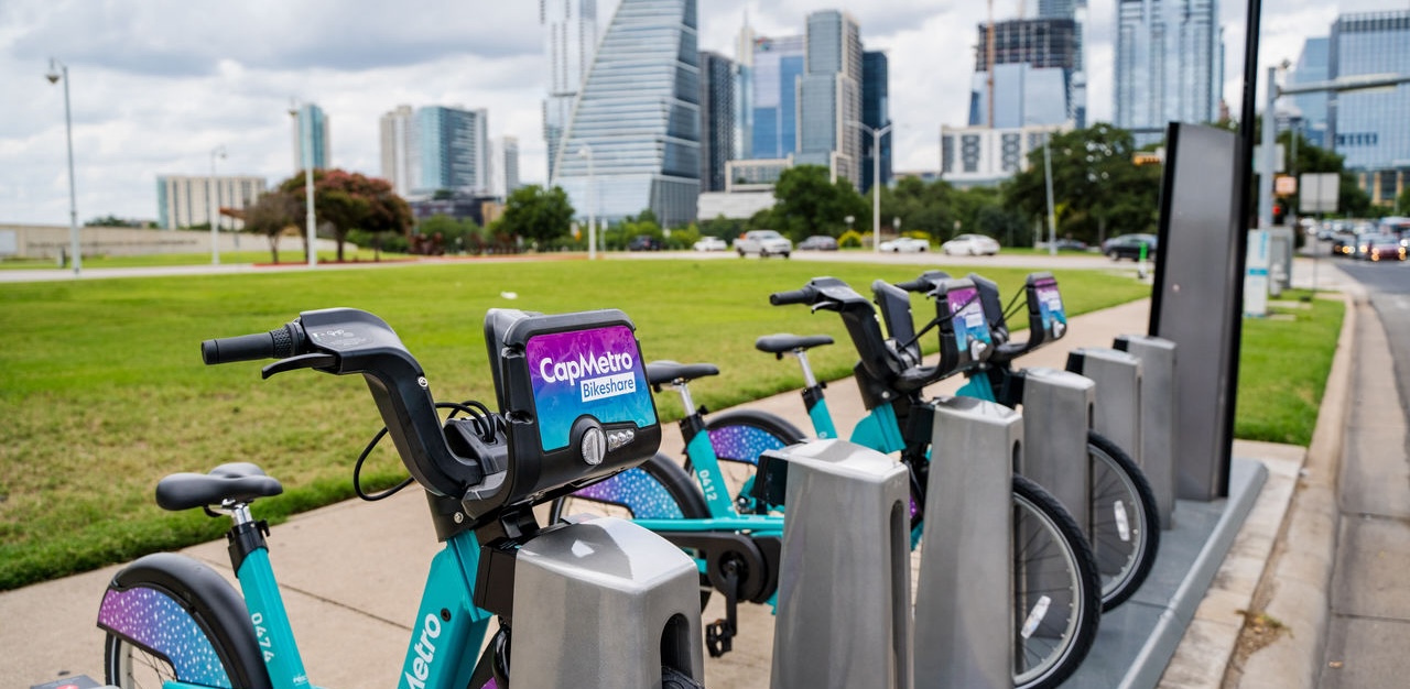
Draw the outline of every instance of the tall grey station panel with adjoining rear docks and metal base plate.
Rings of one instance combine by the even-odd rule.
[[[1159,683],[1268,479],[1263,464],[1232,457],[1231,333],[1244,316],[1246,234],[1235,135],[1172,123],[1166,147],[1149,334],[1074,349],[1067,362],[1096,383],[1093,427],[1149,479],[1160,551],[1142,588],[1103,614],[1091,654],[1063,686]]]

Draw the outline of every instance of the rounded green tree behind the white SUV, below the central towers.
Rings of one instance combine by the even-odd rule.
[[[846,217],[862,218],[871,210],[852,180],[828,179],[828,168],[799,165],[778,176],[774,185],[771,221],[774,230],[802,240],[812,234],[838,237],[847,228]]]

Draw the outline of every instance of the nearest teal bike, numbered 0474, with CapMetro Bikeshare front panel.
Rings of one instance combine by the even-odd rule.
[[[485,340],[498,411],[478,402],[434,402],[420,365],[392,328],[367,311],[305,311],[269,333],[202,344],[207,365],[278,359],[264,368],[264,378],[298,369],[365,378],[386,423],[378,440],[392,437],[410,472],[402,486],[415,482],[426,492],[444,542],[410,617],[412,638],[398,675],[403,689],[510,686],[510,628],[541,627],[537,620],[512,616],[517,555],[541,554],[539,548],[564,540],[574,542],[592,528],[637,534],[634,538],[657,548],[657,558],[675,558],[687,599],[692,597],[689,559],[640,527],[620,520],[540,526],[533,513],[537,503],[619,475],[656,452],[660,424],[632,321],[612,310],[561,316],[495,310],[486,317]],[[587,368],[595,368],[595,378],[584,376]],[[443,421],[437,409],[444,407],[453,411]],[[358,493],[365,495],[357,476],[354,469]],[[233,519],[227,538],[240,590],[212,568],[175,554],[147,555],[118,571],[97,616],[107,635],[109,683],[165,689],[313,686],[269,564],[268,524],[251,514],[254,502],[281,492],[276,479],[248,462],[224,464],[209,473],[176,473],[158,483],[157,502],[164,509],[203,509]],[[565,614],[591,613],[574,604],[564,602]],[[636,686],[699,686],[701,631],[698,623],[682,617],[697,619],[694,604],[685,600],[682,613],[650,630],[650,648],[632,650],[633,661],[649,664],[646,676],[613,668],[615,676],[636,678],[623,681]],[[479,652],[494,617],[499,631]],[[525,638],[536,637],[520,641]],[[519,657],[513,676],[522,678],[516,681],[523,686],[544,686],[546,674],[585,676],[584,668],[560,668],[568,654],[557,651],[563,652]]]

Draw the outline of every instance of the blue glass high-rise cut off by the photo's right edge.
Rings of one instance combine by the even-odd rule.
[[[1342,14],[1331,25],[1327,76],[1410,73],[1410,10]],[[1358,172],[1372,203],[1393,204],[1410,186],[1410,85],[1342,92],[1328,101],[1334,151]]]

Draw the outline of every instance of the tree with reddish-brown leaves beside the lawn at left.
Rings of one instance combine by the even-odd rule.
[[[307,213],[303,172],[283,180],[279,189],[299,201],[300,213]],[[382,232],[406,235],[413,224],[412,207],[389,182],[343,169],[313,170],[313,211],[320,225],[333,228],[338,262],[343,262],[343,242],[350,230],[371,232],[379,249]],[[376,258],[381,259],[381,251]]]

